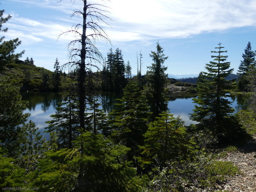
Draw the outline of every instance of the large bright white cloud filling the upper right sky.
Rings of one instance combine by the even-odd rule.
[[[256,1],[204,0],[112,0],[111,17],[114,29],[155,38],[188,37],[203,32],[255,26]],[[126,27],[127,26],[127,27]],[[133,27],[132,27],[133,26]],[[120,38],[121,36],[121,38]],[[119,39],[125,39],[120,33]],[[129,37],[129,39],[131,39]]]

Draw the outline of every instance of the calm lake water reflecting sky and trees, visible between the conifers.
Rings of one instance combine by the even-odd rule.
[[[106,113],[109,113],[111,110],[115,109],[114,103],[116,99],[120,98],[121,95],[111,93],[111,92],[100,92],[101,97],[101,108],[104,109]],[[55,108],[58,107],[58,103],[62,101],[63,93],[22,93],[22,100],[28,101],[28,108],[24,111],[25,113],[30,113],[31,116],[28,120],[35,122],[36,126],[39,128],[40,132],[45,131],[45,127],[48,124],[45,121],[49,121],[52,118],[50,115],[55,114]],[[186,125],[195,123],[189,119],[189,113],[192,113],[194,109],[194,103],[192,101],[196,95],[172,95],[170,96],[170,101],[168,102],[168,108],[171,113],[177,117],[180,117],[185,121]],[[230,101],[233,101],[232,107],[237,111],[245,109],[245,102],[243,95],[236,95],[228,98]],[[47,137],[48,134],[44,136]]]

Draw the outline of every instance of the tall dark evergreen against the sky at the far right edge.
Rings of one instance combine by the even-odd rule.
[[[240,91],[250,91],[249,80],[247,76],[248,72],[251,72],[250,69],[255,66],[255,56],[256,53],[252,51],[251,43],[248,42],[246,48],[244,49],[244,53],[242,54],[243,60],[241,60],[237,70],[237,75],[239,75],[238,89]]]

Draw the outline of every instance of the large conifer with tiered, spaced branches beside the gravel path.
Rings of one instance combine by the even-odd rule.
[[[234,125],[234,118],[231,113],[234,109],[230,106],[232,103],[228,101],[227,96],[230,90],[234,88],[233,80],[225,80],[233,69],[230,69],[230,62],[226,62],[228,56],[221,55],[227,51],[222,51],[221,43],[219,47],[215,47],[217,55],[212,56],[213,61],[206,64],[205,69],[208,72],[203,72],[204,81],[198,83],[196,88],[198,98],[193,99],[195,105],[194,113],[190,114],[190,119],[198,122],[197,126],[202,129],[207,129],[212,132],[214,137],[222,142],[231,140],[235,137],[238,125]],[[233,134],[233,135],[232,135]]]

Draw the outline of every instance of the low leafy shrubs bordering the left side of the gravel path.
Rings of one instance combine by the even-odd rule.
[[[144,191],[186,191],[196,188],[213,187],[216,183],[234,176],[238,168],[231,162],[214,160],[213,156],[198,151],[193,158],[169,162],[165,167],[156,167],[149,173],[149,183]],[[190,188],[192,189],[192,188]]]

